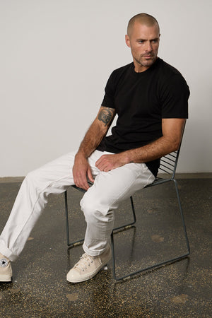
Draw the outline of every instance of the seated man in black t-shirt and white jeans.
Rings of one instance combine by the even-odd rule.
[[[20,187],[0,237],[0,281],[11,281],[11,261],[22,251],[48,194],[71,184],[87,190],[81,200],[87,228],[85,253],[67,280],[86,281],[110,260],[114,210],[153,182],[160,158],[179,147],[188,116],[189,88],[179,71],[158,58],[159,42],[155,18],[140,13],[129,20],[126,45],[133,63],[112,72],[78,152],[30,172]],[[117,124],[106,136],[115,114]]]

